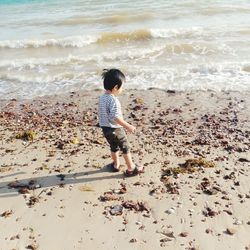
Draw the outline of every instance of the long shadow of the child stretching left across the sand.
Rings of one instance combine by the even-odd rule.
[[[109,175],[104,175],[104,173],[110,173]],[[22,172],[23,173],[23,172]],[[101,176],[93,176],[98,175]],[[13,174],[15,175],[15,174]],[[9,177],[8,176],[2,176]],[[92,177],[93,176],[93,177]],[[112,173],[110,168],[110,164],[105,165],[104,167],[97,169],[97,170],[90,170],[86,172],[80,173],[70,173],[70,174],[54,174],[49,176],[40,176],[40,177],[30,177],[26,179],[15,179],[11,181],[0,182],[0,198],[1,197],[10,197],[18,195],[18,188],[10,188],[8,186],[9,183],[18,181],[19,184],[28,185],[29,183],[34,183],[34,186],[38,185],[39,188],[35,189],[38,191],[42,191],[45,188],[51,188],[56,186],[61,186],[62,184],[77,184],[77,183],[89,183],[93,181],[102,181],[102,180],[109,180],[109,179],[123,179],[124,175],[122,172]],[[32,191],[32,190],[31,190]]]

